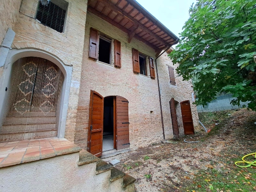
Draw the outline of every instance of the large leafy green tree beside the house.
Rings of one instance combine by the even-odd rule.
[[[256,0],[199,0],[183,29],[169,56],[184,80],[196,78],[196,104],[226,92],[256,110]]]

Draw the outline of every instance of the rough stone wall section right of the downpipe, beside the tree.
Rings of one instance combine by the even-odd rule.
[[[164,131],[165,137],[168,140],[173,138],[172,118],[169,104],[171,98],[174,98],[174,100],[178,102],[176,113],[180,135],[184,135],[180,102],[190,100],[194,126],[198,125],[198,112],[196,105],[192,104],[192,92],[194,91],[191,81],[182,81],[182,77],[179,77],[176,70],[174,70],[176,85],[170,84],[168,66],[176,69],[178,64],[173,65],[172,61],[168,57],[168,53],[164,53],[162,56],[160,56],[160,58],[157,59],[157,65],[161,89],[162,112],[164,117]]]

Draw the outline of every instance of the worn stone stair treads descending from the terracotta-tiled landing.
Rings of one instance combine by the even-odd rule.
[[[136,181],[135,178],[132,176],[125,174],[124,172],[118,170],[117,168],[114,168],[112,165],[108,164],[107,162],[104,162],[103,160],[99,159],[98,157],[90,154],[87,151],[82,151],[79,154],[79,161],[78,166],[84,165],[84,164],[90,164],[96,162],[96,172],[95,174],[101,174],[103,172],[110,171],[110,182],[114,182],[118,180],[122,183],[122,189],[116,189],[116,191],[125,191],[125,192],[134,192],[135,186],[134,182]],[[110,183],[110,185],[111,185]]]

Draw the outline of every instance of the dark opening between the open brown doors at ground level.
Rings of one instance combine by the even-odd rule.
[[[104,98],[103,114],[103,146],[102,151],[114,150],[115,147],[115,115],[116,98],[108,96]]]

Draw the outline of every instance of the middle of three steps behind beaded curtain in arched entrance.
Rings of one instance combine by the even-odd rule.
[[[42,132],[42,131],[56,131],[56,123],[50,124],[20,124],[20,125],[3,125],[0,128],[0,134],[13,134],[24,132]]]

